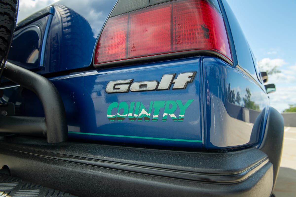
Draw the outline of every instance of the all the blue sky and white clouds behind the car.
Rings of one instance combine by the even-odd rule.
[[[20,0],[18,21],[57,0]],[[281,73],[268,77],[276,85],[270,106],[279,112],[296,104],[296,0],[227,0],[254,56],[263,68],[278,66]]]

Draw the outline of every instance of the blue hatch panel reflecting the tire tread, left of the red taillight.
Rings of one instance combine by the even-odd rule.
[[[52,6],[54,16],[48,35],[46,74],[88,67],[92,64],[96,38],[116,0],[62,0]]]

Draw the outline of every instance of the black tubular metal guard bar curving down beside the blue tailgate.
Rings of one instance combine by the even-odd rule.
[[[2,116],[0,132],[44,135],[48,143],[66,141],[68,130],[65,107],[52,82],[9,62],[5,64],[3,76],[34,92],[41,101],[45,117]]]

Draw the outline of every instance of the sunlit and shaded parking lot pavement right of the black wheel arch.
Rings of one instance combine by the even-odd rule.
[[[276,197],[296,197],[296,127],[284,128],[281,166],[274,194]]]

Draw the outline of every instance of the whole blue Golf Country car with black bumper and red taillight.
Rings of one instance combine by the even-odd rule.
[[[275,85],[225,0],[58,1],[18,22],[3,76],[0,192],[273,195]]]

